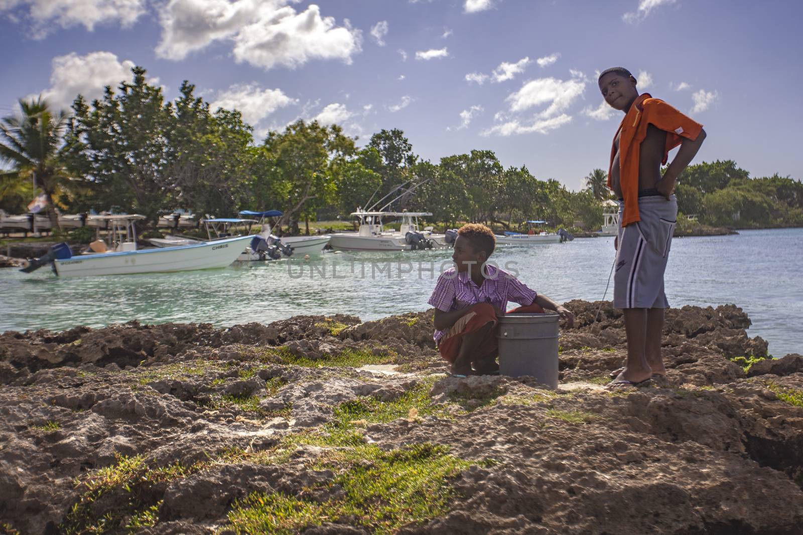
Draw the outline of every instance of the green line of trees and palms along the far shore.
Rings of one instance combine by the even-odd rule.
[[[299,234],[311,233],[315,221],[347,221],[406,184],[414,190],[387,209],[431,212],[427,222],[443,228],[465,221],[526,232],[524,221],[538,219],[545,229],[579,235],[604,222],[610,193],[600,168],[574,192],[560,182],[572,177],[536,178],[489,150],[424,160],[397,128],[359,147],[340,125],[298,120],[257,140],[239,111],[211,109],[192,83],[169,100],[144,68],[132,72],[132,82],[107,87],[102,99],[77,95],[69,112],[42,99],[20,101],[22,115],[0,123],[0,209],[24,213],[37,193],[54,229],[55,209],[94,210],[145,215],[139,233],[155,232],[161,214],[179,209],[197,217],[280,209],[277,230]],[[752,178],[732,160],[689,166],[676,195],[679,212],[708,227],[803,226],[800,180]]]

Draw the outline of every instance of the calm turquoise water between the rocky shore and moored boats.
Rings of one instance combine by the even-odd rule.
[[[494,258],[503,267],[511,262],[528,286],[564,302],[601,299],[613,255],[613,238],[604,237],[500,247]],[[132,319],[230,326],[338,312],[369,320],[429,308],[440,264],[450,257],[450,250],[324,253],[306,262],[68,279],[46,268],[30,275],[6,269],[0,270],[0,332]],[[672,306],[741,306],[753,322],[748,334],[768,340],[772,355],[803,353],[801,259],[803,229],[679,238],[672,244],[666,294]],[[607,299],[612,294],[613,286]]]

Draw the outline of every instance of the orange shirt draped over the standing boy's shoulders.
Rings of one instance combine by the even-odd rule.
[[[611,184],[610,172],[613,170],[613,157],[616,156],[616,136],[619,138],[619,184],[622,197],[625,197],[625,210],[622,213],[622,226],[641,221],[638,217],[638,159],[642,141],[647,135],[647,125],[652,124],[666,132],[666,147],[663,150],[662,164],[666,164],[669,152],[683,143],[683,138],[696,140],[703,125],[696,123],[683,113],[671,107],[661,99],[654,99],[649,93],[642,93],[635,99],[627,111],[610,148],[610,166],[608,168],[608,187]]]

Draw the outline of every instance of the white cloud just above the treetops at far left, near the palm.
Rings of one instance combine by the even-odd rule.
[[[67,111],[75,97],[84,95],[87,102],[100,99],[105,87],[116,87],[123,80],[131,81],[134,62],[126,59],[120,62],[112,52],[90,52],[77,55],[75,52],[53,58],[51,61],[51,87],[42,91],[55,109]],[[157,79],[149,79],[157,83]]]

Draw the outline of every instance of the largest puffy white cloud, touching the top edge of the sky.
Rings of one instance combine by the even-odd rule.
[[[184,59],[215,41],[234,43],[237,63],[270,69],[277,65],[298,67],[311,59],[341,59],[351,63],[361,51],[362,34],[336,26],[332,17],[321,17],[314,4],[297,12],[296,0],[169,0],[161,8],[161,43],[157,56]]]

